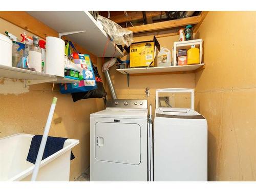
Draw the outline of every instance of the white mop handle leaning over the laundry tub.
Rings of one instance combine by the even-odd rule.
[[[47,141],[47,137],[48,137],[48,134],[49,134],[49,131],[50,131],[50,126],[51,126],[51,123],[52,123],[52,118],[53,118],[56,102],[57,102],[57,97],[53,97],[52,105],[51,105],[50,112],[49,112],[47,122],[46,122],[46,126],[45,126],[44,135],[42,135],[42,140],[41,140],[39,151],[38,151],[38,154],[37,154],[37,157],[36,157],[35,168],[33,170],[31,181],[36,180],[36,177],[37,177],[37,174],[38,174],[38,171],[39,171],[39,168],[40,168],[42,155],[44,155],[46,141]]]

